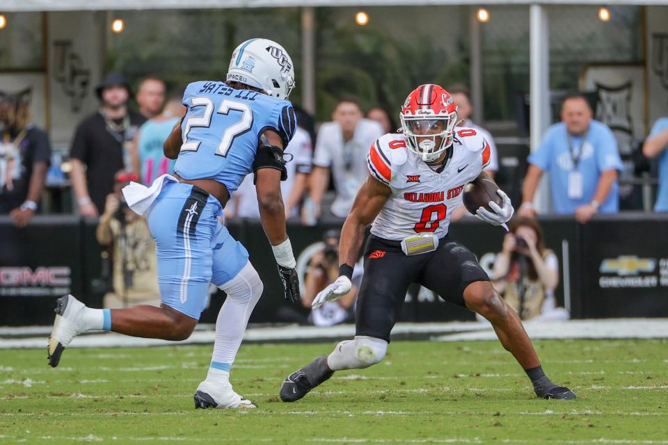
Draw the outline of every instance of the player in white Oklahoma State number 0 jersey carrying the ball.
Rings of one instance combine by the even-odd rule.
[[[456,106],[438,85],[413,90],[400,118],[403,132],[386,134],[369,149],[369,177],[342,229],[340,277],[313,302],[316,308],[349,291],[365,227],[373,223],[364,252],[356,336],[290,374],[280,389],[281,400],[299,400],[334,371],[379,363],[412,283],[487,318],[504,348],[532,380],[536,396],[575,398],[571,389],[545,375],[514,310],[493,289],[475,255],[447,234],[450,214],[461,205],[464,186],[486,177],[482,170],[489,162],[488,143],[475,129],[456,127]],[[502,206],[490,202],[493,211],[480,207],[476,216],[503,225],[513,215],[513,207],[505,193],[497,193]]]

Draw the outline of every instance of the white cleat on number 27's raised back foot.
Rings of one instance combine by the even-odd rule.
[[[86,305],[71,295],[58,298],[56,301],[56,321],[49,336],[48,346],[49,364],[54,368],[58,366],[63,350],[72,343],[72,339],[88,330],[81,316],[84,309]]]

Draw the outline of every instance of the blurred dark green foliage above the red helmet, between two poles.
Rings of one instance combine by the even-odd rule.
[[[402,40],[382,26],[358,26],[351,20],[337,24],[329,8],[317,10],[317,24],[319,121],[331,118],[342,95],[358,97],[365,111],[382,106],[397,119],[404,99],[421,83],[468,81],[468,60],[451,58],[429,30]]]

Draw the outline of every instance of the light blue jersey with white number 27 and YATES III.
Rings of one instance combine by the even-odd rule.
[[[223,82],[193,82],[182,102],[187,112],[174,171],[184,179],[216,179],[230,193],[253,170],[260,134],[272,129],[287,147],[297,126],[289,101]]]

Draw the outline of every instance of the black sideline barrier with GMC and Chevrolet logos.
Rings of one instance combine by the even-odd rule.
[[[569,306],[573,318],[668,316],[668,215],[596,216],[586,225],[566,217],[539,220],[547,247],[559,257],[557,302]],[[298,263],[308,263],[305,251],[321,241],[327,229],[339,229],[341,224],[340,220],[327,220],[318,227],[289,223]],[[96,225],[95,220],[77,216],[35,216],[28,227],[17,229],[10,218],[0,217],[0,325],[48,325],[56,298],[68,292],[91,307],[102,305],[103,249],[95,241]],[[276,314],[287,303],[262,226],[236,220],[228,228],[246,245],[264,281],[264,295],[250,321],[280,321]],[[490,271],[503,234],[500,227],[475,218],[450,227],[450,236],[475,252]],[[213,323],[224,298],[221,292],[214,295],[201,320]],[[474,316],[413,286],[401,319],[449,321]]]

